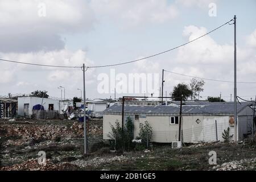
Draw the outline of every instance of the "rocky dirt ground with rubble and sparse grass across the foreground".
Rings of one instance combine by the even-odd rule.
[[[0,122],[0,170],[255,170],[254,142],[200,143],[172,149],[152,144],[147,151],[117,154],[102,140],[102,119],[89,121],[89,155],[83,155],[83,123],[21,120]],[[38,163],[38,152],[46,163]],[[209,152],[217,154],[210,165]]]

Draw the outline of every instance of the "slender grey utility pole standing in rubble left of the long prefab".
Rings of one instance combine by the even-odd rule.
[[[84,154],[88,154],[87,136],[86,136],[86,98],[85,98],[85,65],[82,64],[83,84],[84,84]]]

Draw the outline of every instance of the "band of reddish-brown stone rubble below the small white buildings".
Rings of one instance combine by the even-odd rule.
[[[6,124],[1,126],[6,130],[6,134],[2,137],[16,137],[15,140],[7,140],[5,145],[16,145],[27,144],[32,140],[43,141],[43,140],[54,140],[57,137],[64,136],[65,138],[81,138],[84,135],[83,125],[79,122],[73,122],[71,127],[65,125],[35,125],[35,123],[24,124]],[[89,123],[87,126],[89,135],[102,134],[102,126],[94,125]]]

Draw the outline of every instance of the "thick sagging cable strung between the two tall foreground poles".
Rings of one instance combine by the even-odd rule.
[[[233,19],[230,20],[229,22],[232,22],[232,21],[233,21]],[[209,32],[207,32],[206,34],[201,35],[201,36],[199,36],[199,37],[196,38],[196,39],[193,39],[193,40],[191,40],[191,41],[189,41],[189,42],[187,42],[187,43],[181,44],[180,46],[177,46],[177,47],[168,49],[167,51],[155,53],[154,55],[151,55],[151,56],[143,57],[143,58],[141,58],[141,59],[136,59],[136,60],[133,60],[133,61],[127,61],[127,62],[124,62],[124,63],[109,64],[109,65],[99,65],[99,66],[92,66],[92,67],[88,67],[88,68],[114,67],[114,66],[117,66],[117,65],[123,65],[123,64],[134,63],[134,62],[137,62],[137,61],[141,61],[141,60],[144,60],[144,59],[148,59],[148,58],[150,58],[150,57],[155,57],[155,56],[158,56],[158,55],[162,55],[163,53],[173,51],[174,49],[177,49],[177,48],[180,48],[180,47],[182,47],[182,46],[185,46],[185,45],[187,45],[187,44],[189,44],[189,43],[192,43],[192,42],[194,42],[194,41],[197,40],[197,39],[203,38],[203,36],[208,35],[208,34],[212,33],[213,31],[218,30],[218,28],[221,28],[221,27],[225,26],[225,25],[228,24],[229,22],[226,22],[226,23],[222,24],[221,26],[219,26],[219,27],[217,27],[217,28],[214,28],[212,31],[209,31]]]

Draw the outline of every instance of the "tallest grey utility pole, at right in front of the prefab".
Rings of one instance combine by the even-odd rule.
[[[234,142],[237,142],[237,17],[234,15]]]

